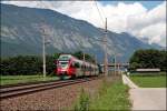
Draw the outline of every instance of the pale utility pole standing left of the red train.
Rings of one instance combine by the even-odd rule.
[[[45,28],[42,29],[43,30],[43,36],[42,36],[42,43],[43,43],[43,78],[46,78],[46,30]]]

